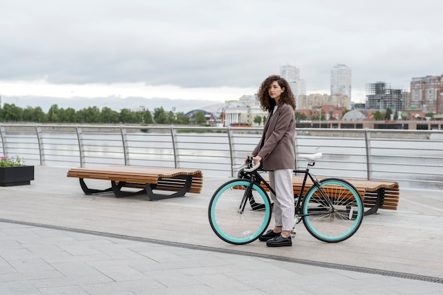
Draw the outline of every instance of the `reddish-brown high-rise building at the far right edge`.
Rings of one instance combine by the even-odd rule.
[[[443,75],[413,78],[410,82],[410,107],[442,114]]]

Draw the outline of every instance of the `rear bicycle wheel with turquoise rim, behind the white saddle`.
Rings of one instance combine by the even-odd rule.
[[[313,185],[302,204],[306,229],[318,240],[337,243],[350,238],[362,224],[362,198],[345,180],[327,178]]]

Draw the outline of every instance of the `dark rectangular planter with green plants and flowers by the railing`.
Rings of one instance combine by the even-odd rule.
[[[0,157],[0,186],[29,185],[34,180],[34,166],[26,166],[23,158]]]

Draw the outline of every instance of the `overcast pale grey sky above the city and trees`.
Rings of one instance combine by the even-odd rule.
[[[0,0],[1,96],[235,100],[282,64],[409,88],[443,74],[440,0]]]

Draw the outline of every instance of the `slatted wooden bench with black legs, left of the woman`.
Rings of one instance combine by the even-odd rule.
[[[200,193],[203,174],[200,170],[159,168],[144,166],[107,166],[95,168],[71,168],[67,177],[79,178],[81,189],[86,195],[114,192],[115,197],[146,193],[150,200],[184,197],[186,192]],[[110,180],[111,187],[105,190],[89,188],[84,179]],[[122,187],[142,188],[137,192],[122,191]],[[173,192],[170,195],[155,193],[154,190]]]

